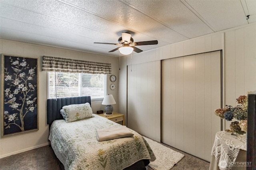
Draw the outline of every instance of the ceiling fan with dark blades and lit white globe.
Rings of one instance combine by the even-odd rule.
[[[115,49],[112,49],[111,51],[108,52],[114,52],[116,50],[119,50],[120,53],[122,53],[123,55],[128,55],[130,53],[132,53],[132,51],[135,51],[136,53],[140,53],[142,52],[141,49],[138,49],[137,45],[155,45],[158,44],[157,40],[153,40],[153,41],[140,41],[140,42],[133,42],[133,38],[131,37],[130,33],[122,33],[122,37],[118,38],[118,43],[119,44],[115,44],[115,43],[94,43],[94,44],[110,44],[110,45],[121,45],[120,47],[117,47]]]

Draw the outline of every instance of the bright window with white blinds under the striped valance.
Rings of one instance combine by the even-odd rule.
[[[48,72],[48,98],[106,95],[106,74]]]

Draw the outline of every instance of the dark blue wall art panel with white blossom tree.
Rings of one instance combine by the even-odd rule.
[[[2,54],[2,137],[38,130],[38,59]]]

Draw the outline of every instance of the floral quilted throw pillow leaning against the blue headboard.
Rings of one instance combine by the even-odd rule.
[[[92,108],[89,103],[72,104],[68,106],[63,106],[62,109],[64,110],[66,115],[66,122],[94,117],[94,115],[92,115]]]

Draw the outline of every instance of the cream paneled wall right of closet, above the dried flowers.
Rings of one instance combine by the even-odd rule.
[[[225,32],[225,104],[256,90],[256,25]],[[225,121],[225,129],[230,129]]]

